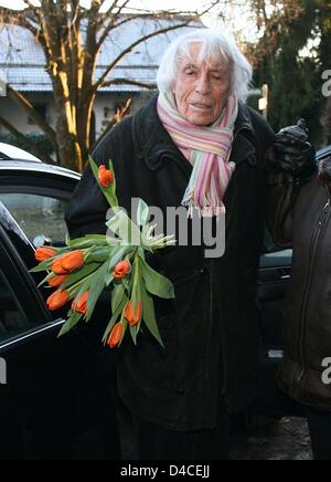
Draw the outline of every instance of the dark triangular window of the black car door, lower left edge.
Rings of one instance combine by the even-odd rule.
[[[22,334],[31,327],[14,292],[0,270],[0,343]]]

